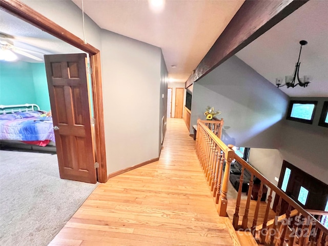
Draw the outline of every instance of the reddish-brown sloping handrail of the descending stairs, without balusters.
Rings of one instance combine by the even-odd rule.
[[[246,162],[244,159],[239,157],[238,155],[235,155],[235,159],[240,163],[241,166],[246,168],[247,170],[251,171],[251,173],[256,176],[258,179],[263,181],[265,185],[267,185],[270,189],[272,189],[276,195],[280,196],[283,200],[288,202],[294,209],[296,209],[299,213],[301,213],[303,216],[309,216],[309,218],[314,219],[318,221],[313,215],[311,215],[308,211],[303,209],[296,201],[294,201],[292,198],[290,198],[288,195],[286,195],[282,190],[280,190],[278,187],[274,185],[271,181],[269,181],[267,178],[265,178],[261,173],[259,173],[254,167],[252,167],[248,162]],[[328,229],[326,229],[323,224],[318,221],[318,226],[320,230],[325,231],[328,234]]]

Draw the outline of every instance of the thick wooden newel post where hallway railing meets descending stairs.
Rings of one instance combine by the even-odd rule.
[[[221,193],[219,198],[218,213],[219,216],[227,216],[227,206],[228,206],[228,182],[230,176],[230,165],[235,158],[235,152],[232,150],[233,145],[228,145],[229,150],[226,151],[226,167],[224,168],[223,181],[221,186]]]

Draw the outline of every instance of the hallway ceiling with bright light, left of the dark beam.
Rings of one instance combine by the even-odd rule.
[[[184,83],[244,0],[157,1],[157,11],[150,2],[84,1],[84,11],[100,28],[160,47],[169,77]]]

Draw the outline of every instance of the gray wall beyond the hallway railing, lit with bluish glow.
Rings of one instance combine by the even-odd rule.
[[[222,113],[228,145],[278,149],[288,96],[236,56],[194,83],[191,125],[207,106]],[[192,128],[191,132],[192,133]]]

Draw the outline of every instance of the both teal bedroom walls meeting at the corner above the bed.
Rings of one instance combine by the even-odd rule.
[[[0,61],[0,104],[37,104],[49,111],[45,64]]]

